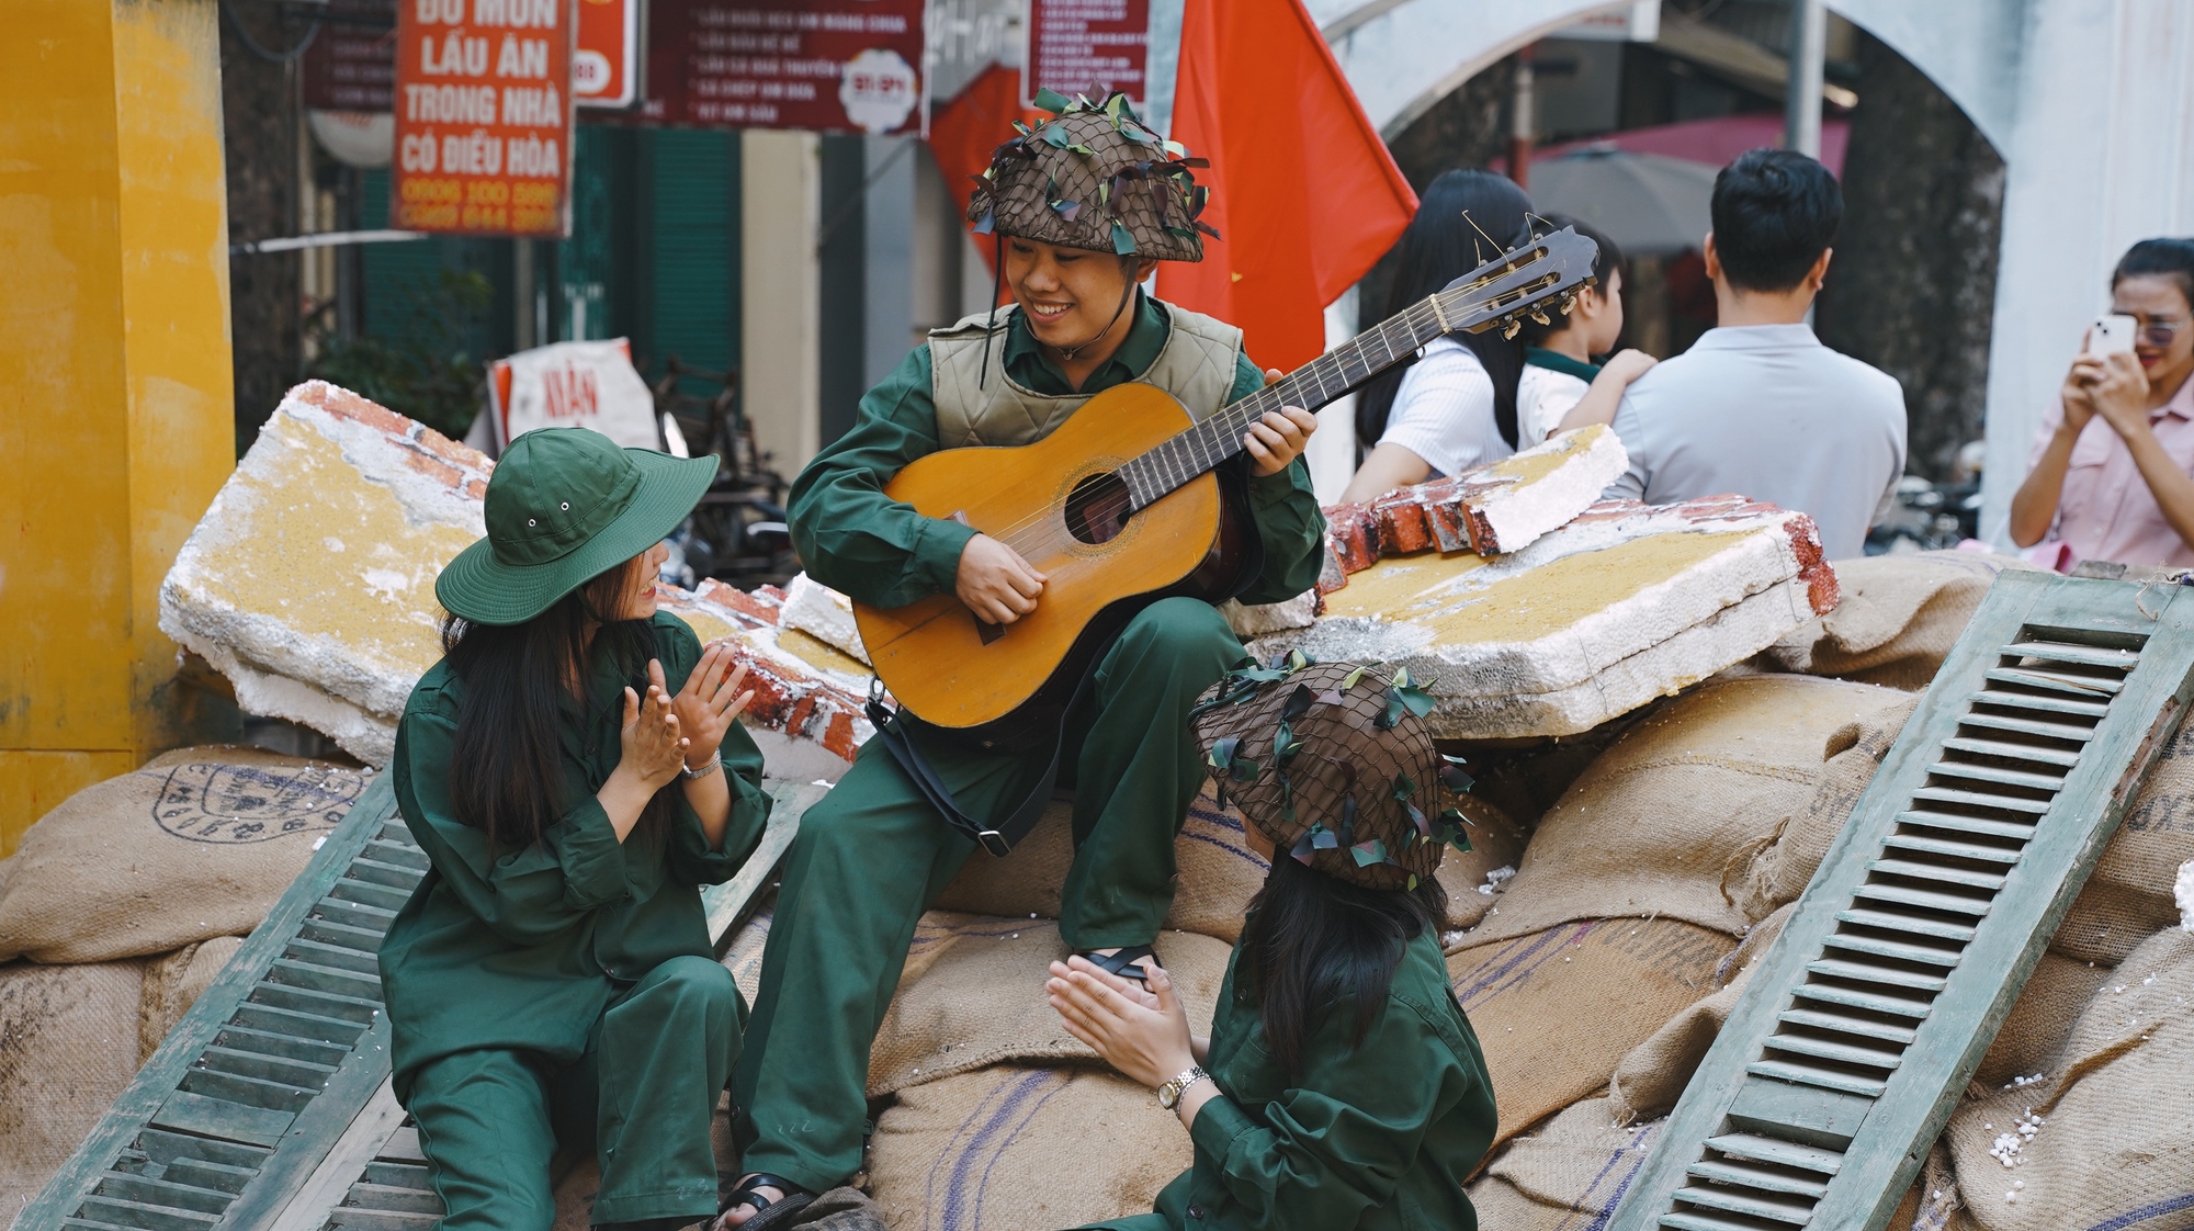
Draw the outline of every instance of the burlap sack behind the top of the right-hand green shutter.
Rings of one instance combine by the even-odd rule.
[[[2032,566],[1992,551],[1839,560],[1836,610],[1788,632],[1766,658],[1808,676],[1926,689],[2005,568]]]

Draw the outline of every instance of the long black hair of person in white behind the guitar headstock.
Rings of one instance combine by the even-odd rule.
[[[1470,213],[1466,219],[1463,213]],[[1417,217],[1409,219],[1395,244],[1393,290],[1387,294],[1387,316],[1452,283],[1470,270],[1499,257],[1529,237],[1531,197],[1507,176],[1492,171],[1446,171],[1424,189]],[[1472,222],[1477,226],[1472,226]],[[1479,233],[1485,235],[1479,235]],[[1492,237],[1492,241],[1488,241]],[[1516,443],[1516,382],[1523,380],[1523,342],[1503,338],[1499,329],[1457,334],[1470,347],[1485,375],[1494,380],[1494,426],[1501,439]],[[1371,377],[1356,395],[1356,434],[1365,448],[1387,432],[1393,395],[1402,388],[1409,360]]]

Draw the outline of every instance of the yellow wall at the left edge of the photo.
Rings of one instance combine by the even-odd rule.
[[[0,856],[186,742],[158,595],[235,459],[213,0],[9,0]]]

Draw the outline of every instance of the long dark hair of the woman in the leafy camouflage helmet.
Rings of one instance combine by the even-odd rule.
[[[1264,1044],[1290,1075],[1343,1001],[1354,1001],[1349,1044],[1362,1044],[1393,987],[1402,946],[1448,913],[1448,893],[1426,876],[1417,889],[1360,889],[1279,851],[1248,904],[1235,994],[1257,1001]]]

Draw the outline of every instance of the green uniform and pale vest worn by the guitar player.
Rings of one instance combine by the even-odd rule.
[[[882,492],[900,467],[941,448],[939,423],[954,426],[957,443],[1018,443],[1055,426],[1071,410],[1068,402],[1150,380],[1154,371],[1169,373],[1165,382],[1176,395],[1180,386],[1207,384],[1205,404],[1185,399],[1196,417],[1262,388],[1264,377],[1240,353],[1235,331],[1141,292],[1132,312],[1119,351],[1079,391],[1011,312],[983,382],[994,395],[1003,386],[1014,399],[998,413],[970,415],[965,399],[976,382],[932,371],[932,347],[948,364],[965,360],[965,329],[941,334],[941,347],[915,349],[869,391],[853,430],[816,456],[792,487],[792,535],[807,573],[880,608],[952,590],[961,549],[974,531],[924,518]],[[1209,362],[1183,362],[1189,338],[1176,331],[1196,331],[1205,355],[1211,340],[1235,338],[1231,377],[1211,384],[1200,375]],[[954,404],[941,404],[941,391],[950,391]],[[1025,426],[1000,441],[1000,415],[1022,410],[1029,413],[1018,419]],[[1270,603],[1308,590],[1316,581],[1325,520],[1303,463],[1248,478],[1248,511],[1264,540],[1264,568],[1242,601]],[[1099,658],[1090,700],[1068,718],[1066,766],[1077,781],[1077,854],[1060,919],[1068,946],[1134,946],[1156,937],[1174,895],[1174,834],[1202,775],[1187,713],[1240,656],[1242,643],[1215,608],[1165,599],[1145,608]],[[1003,818],[1042,775],[1044,753],[983,753],[952,744],[911,715],[897,722],[970,816]],[[974,843],[952,829],[875,744],[864,746],[829,797],[801,818],[761,961],[748,1047],[733,1075],[744,1170],[785,1176],[812,1192],[860,1170],[869,1044],[897,987],[917,917],[972,851]]]

